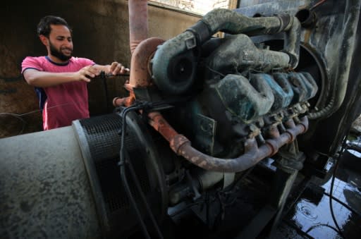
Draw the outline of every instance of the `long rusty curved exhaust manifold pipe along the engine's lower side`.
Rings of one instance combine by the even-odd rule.
[[[299,135],[307,130],[305,125],[308,125],[307,117],[302,118],[302,123],[294,125],[292,128],[288,128],[285,133],[279,134],[277,128],[271,135],[275,137],[266,140],[266,143],[260,147],[257,146],[257,142],[254,137],[245,141],[245,153],[235,159],[219,159],[211,157],[207,154],[199,152],[197,149],[191,146],[190,140],[184,135],[180,135],[174,130],[166,119],[161,116],[159,112],[152,112],[148,114],[149,124],[157,130],[163,137],[170,143],[171,149],[176,154],[184,157],[188,161],[192,162],[209,171],[224,171],[224,172],[239,172],[245,171],[257,164],[262,159],[276,154],[280,147],[286,145],[293,140],[293,134]],[[291,125],[291,123],[288,123]]]

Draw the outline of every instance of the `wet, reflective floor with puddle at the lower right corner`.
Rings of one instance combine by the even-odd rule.
[[[348,149],[341,157],[334,179],[332,208],[341,233],[331,216],[331,173],[312,178],[288,209],[275,238],[361,238],[361,154]],[[329,161],[328,169],[334,170]]]

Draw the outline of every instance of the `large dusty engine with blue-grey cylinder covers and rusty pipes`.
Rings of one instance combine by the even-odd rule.
[[[125,85],[129,97],[114,99],[114,105],[122,121],[123,195],[135,207],[145,237],[162,237],[161,219],[172,220],[169,210],[182,210],[182,204],[185,208],[207,204],[208,209],[193,210],[208,226],[216,224],[218,216],[209,215],[213,212],[209,208],[218,207],[219,202],[207,200],[222,193],[237,195],[243,177],[263,159],[274,161],[273,173],[283,180],[272,202],[266,200],[267,209],[273,208],[269,215],[281,212],[288,185],[305,161],[297,138],[309,127],[307,114],[314,108],[310,99],[320,84],[314,72],[295,71],[300,61],[300,29],[298,18],[289,14],[248,18],[216,9],[173,39],[149,38],[137,45],[130,82]],[[212,37],[219,31],[226,35]],[[279,50],[250,38],[281,32]],[[138,129],[140,125],[143,130]],[[133,148],[136,154],[131,153]],[[148,158],[147,151],[157,157]],[[137,185],[144,178],[138,181],[137,176],[145,173],[137,173],[139,160],[152,162],[147,176],[158,176],[153,180],[158,192],[145,190],[142,195],[144,190]],[[133,177],[127,179],[126,171]],[[128,180],[138,190],[127,190]],[[162,199],[161,204],[154,204],[152,198]],[[225,234],[217,236],[221,235]]]

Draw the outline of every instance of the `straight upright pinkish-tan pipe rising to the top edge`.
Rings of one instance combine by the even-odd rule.
[[[148,38],[147,0],[129,0],[129,43],[133,54],[136,47]]]

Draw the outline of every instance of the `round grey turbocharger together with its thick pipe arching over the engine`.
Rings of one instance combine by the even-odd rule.
[[[166,41],[154,55],[152,66],[154,82],[159,90],[169,94],[183,94],[192,87],[197,67],[192,49],[202,46],[216,32],[231,34],[264,35],[286,32],[283,51],[288,54],[288,66],[298,65],[300,51],[300,22],[289,15],[248,18],[228,9],[215,9],[185,32]],[[174,84],[174,65],[183,64],[182,84]]]

